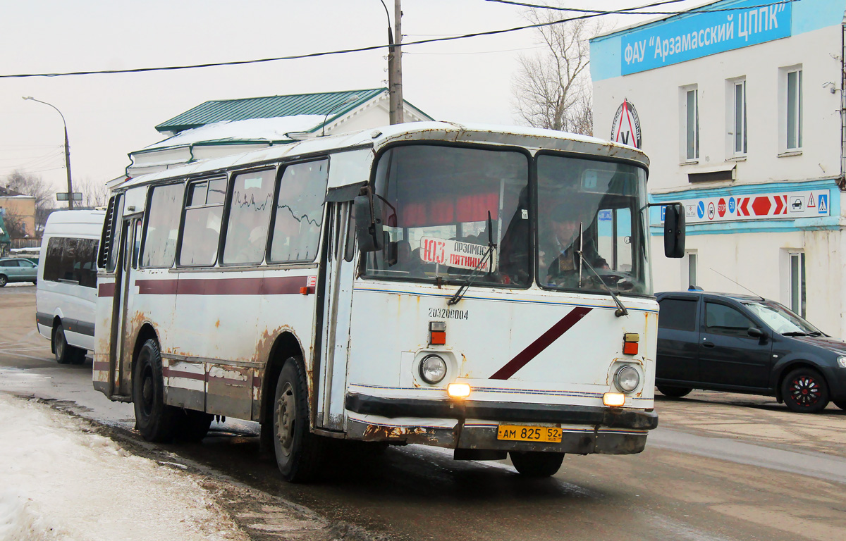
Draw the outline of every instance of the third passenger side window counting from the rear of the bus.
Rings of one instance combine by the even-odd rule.
[[[264,260],[274,178],[275,169],[245,172],[234,178],[223,263],[248,264]]]

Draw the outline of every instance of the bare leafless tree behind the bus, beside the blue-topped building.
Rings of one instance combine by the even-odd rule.
[[[563,19],[561,11],[532,8],[526,18],[535,24]],[[520,55],[514,76],[514,108],[535,128],[593,134],[590,45],[602,23],[570,20],[538,29],[543,52]]]

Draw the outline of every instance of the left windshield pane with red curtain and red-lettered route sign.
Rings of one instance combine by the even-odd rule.
[[[385,249],[370,276],[475,285],[530,283],[529,156],[516,150],[407,145],[382,154]]]

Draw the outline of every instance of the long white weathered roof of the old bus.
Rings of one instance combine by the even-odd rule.
[[[649,158],[639,149],[586,135],[568,134],[552,129],[498,126],[494,124],[459,124],[449,122],[416,122],[369,128],[349,134],[327,135],[273,145],[231,156],[195,161],[164,171],[127,178],[112,189],[151,183],[167,178],[180,178],[221,171],[230,167],[279,161],[286,157],[309,156],[344,149],[370,146],[379,150],[398,141],[448,141],[488,145],[519,145],[530,149],[562,150],[591,156],[605,156],[637,161],[649,166]]]

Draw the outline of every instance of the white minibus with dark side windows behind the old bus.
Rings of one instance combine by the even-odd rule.
[[[104,210],[58,210],[47,217],[36,284],[36,325],[60,364],[94,351],[97,249]]]

